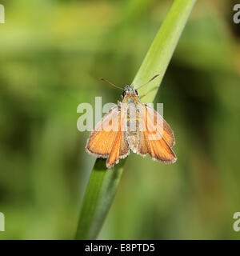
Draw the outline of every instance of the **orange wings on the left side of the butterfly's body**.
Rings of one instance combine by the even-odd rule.
[[[124,125],[124,113],[121,106],[114,106],[106,114],[90,134],[86,142],[86,151],[98,158],[107,158],[106,167],[111,168],[119,162],[119,158],[126,158],[129,147],[126,132],[121,129]]]

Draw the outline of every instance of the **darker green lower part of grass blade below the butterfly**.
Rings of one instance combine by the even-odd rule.
[[[76,239],[97,237],[113,201],[125,161],[123,159],[114,169],[106,169],[105,159],[96,160],[83,198]]]

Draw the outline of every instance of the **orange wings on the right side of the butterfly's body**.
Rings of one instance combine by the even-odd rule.
[[[174,134],[165,120],[150,106],[140,103],[138,154],[150,154],[158,162],[171,163],[177,160],[171,146],[174,146]],[[161,119],[154,119],[159,115]],[[159,118],[159,117],[158,117]],[[156,124],[154,120],[157,120]],[[160,122],[159,122],[160,120]],[[162,121],[161,121],[162,120]]]

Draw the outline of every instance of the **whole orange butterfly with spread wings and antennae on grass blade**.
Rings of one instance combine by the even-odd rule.
[[[101,80],[115,86],[104,78]],[[174,133],[167,122],[152,107],[140,102],[138,91],[131,85],[124,87],[122,102],[98,122],[86,142],[86,152],[107,158],[107,168],[126,158],[130,150],[142,156],[150,154],[158,162],[172,163],[177,160],[172,150],[174,142]]]

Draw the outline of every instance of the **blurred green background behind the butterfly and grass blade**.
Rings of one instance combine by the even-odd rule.
[[[0,239],[74,238],[95,158],[77,106],[117,102],[172,1],[1,1]],[[155,102],[178,161],[130,154],[102,239],[239,239],[237,1],[198,1]]]

